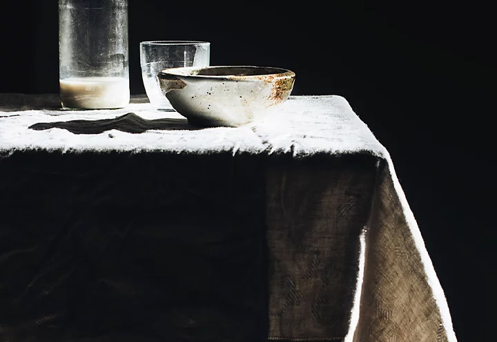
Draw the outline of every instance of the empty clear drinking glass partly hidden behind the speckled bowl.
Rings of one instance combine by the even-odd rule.
[[[210,57],[211,43],[206,41],[142,41],[140,64],[150,104],[156,108],[170,106],[157,81],[160,71],[182,66],[209,66]]]

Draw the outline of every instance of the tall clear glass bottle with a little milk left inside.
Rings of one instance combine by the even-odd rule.
[[[63,108],[129,104],[128,1],[59,0]]]

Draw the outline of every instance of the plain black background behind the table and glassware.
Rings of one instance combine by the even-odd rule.
[[[492,339],[496,305],[495,24],[476,2],[130,0],[139,41],[211,41],[211,65],[289,68],[293,95],[338,94],[387,147],[459,341]],[[57,93],[57,1],[5,1],[0,92]]]

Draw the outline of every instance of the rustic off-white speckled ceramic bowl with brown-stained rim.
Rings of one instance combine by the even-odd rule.
[[[290,95],[295,73],[260,66],[170,68],[157,75],[162,93],[195,126],[241,126],[260,120]]]

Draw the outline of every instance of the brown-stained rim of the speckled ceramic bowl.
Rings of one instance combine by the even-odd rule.
[[[274,69],[275,73],[264,73],[260,75],[191,75],[186,74],[193,70],[204,70],[204,69],[226,69],[226,68],[247,68],[247,69]],[[165,78],[170,75],[182,78],[192,78],[192,79],[231,79],[231,80],[242,80],[242,79],[261,79],[263,77],[295,77],[295,73],[292,70],[275,67],[275,66],[182,66],[179,68],[167,68],[161,70],[158,73],[159,78]]]

